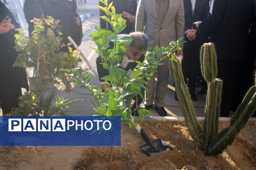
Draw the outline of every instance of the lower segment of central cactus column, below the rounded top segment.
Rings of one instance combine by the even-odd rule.
[[[208,85],[207,103],[205,109],[206,115],[203,126],[205,147],[209,146],[213,137],[218,132],[218,115],[220,108],[221,87],[221,79],[215,79],[215,81],[210,82]]]

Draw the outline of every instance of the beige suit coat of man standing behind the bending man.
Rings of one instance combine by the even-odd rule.
[[[149,47],[169,47],[171,41],[184,37],[184,24],[183,0],[170,0],[169,9],[162,23],[158,20],[156,0],[140,0],[135,31],[144,32],[149,37]]]

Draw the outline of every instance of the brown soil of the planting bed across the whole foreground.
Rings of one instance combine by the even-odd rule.
[[[229,125],[221,121],[220,128]],[[223,154],[204,156],[181,121],[146,120],[141,123],[151,139],[163,139],[174,150],[146,156],[145,141],[122,124],[122,146],[0,147],[0,170],[255,170],[256,121],[249,121]]]

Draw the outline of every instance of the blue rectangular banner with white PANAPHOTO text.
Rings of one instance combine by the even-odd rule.
[[[0,146],[120,146],[120,116],[0,116]]]

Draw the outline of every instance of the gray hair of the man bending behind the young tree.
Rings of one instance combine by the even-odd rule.
[[[147,47],[148,37],[142,32],[132,32],[128,36],[133,39],[130,44],[131,48],[143,50]]]

